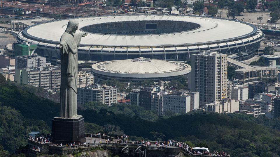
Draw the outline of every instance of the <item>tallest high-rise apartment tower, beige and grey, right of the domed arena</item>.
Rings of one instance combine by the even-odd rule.
[[[192,55],[190,89],[199,92],[199,105],[227,98],[227,55],[213,50]]]

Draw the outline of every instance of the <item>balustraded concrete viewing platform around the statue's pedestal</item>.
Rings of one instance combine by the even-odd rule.
[[[123,141],[115,139],[110,136],[101,135],[98,138],[98,135],[92,134],[92,138],[90,138],[90,134],[85,134],[86,136],[86,144],[76,144],[76,145],[60,145],[53,144],[51,142],[40,143],[34,140],[28,139],[28,151],[29,156],[36,156],[36,154],[58,154],[58,155],[67,155],[74,154],[76,152],[85,152],[92,151],[94,148],[103,148],[111,151],[112,154],[126,154],[126,156],[177,156],[177,155],[185,155],[185,156],[227,156],[229,154],[217,155],[215,153],[210,153],[210,155],[202,155],[196,154],[194,151],[195,148],[188,147],[187,144],[182,142],[173,142],[173,146],[168,146],[168,142],[159,142],[159,144],[155,144],[156,141],[151,141],[147,143],[140,143],[138,141]],[[106,142],[106,139],[110,139],[111,142]],[[96,143],[94,143],[94,140]],[[161,144],[164,144],[162,146]],[[166,145],[165,145],[166,144]],[[39,150],[35,150],[35,148],[39,148]],[[197,147],[198,148],[198,147]],[[207,149],[207,148],[206,148]],[[208,149],[207,149],[208,150]],[[201,150],[200,150],[201,151]],[[208,150],[209,151],[209,150]],[[199,151],[198,151],[199,152]]]

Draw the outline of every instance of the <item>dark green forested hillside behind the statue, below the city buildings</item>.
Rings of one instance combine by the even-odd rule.
[[[0,75],[0,153],[13,152],[27,144],[28,133],[50,133],[59,104],[37,97],[5,81]],[[139,106],[88,103],[78,110],[86,132],[106,131],[108,124],[132,136],[154,140],[174,139],[231,156],[279,156],[280,118],[254,118],[243,114],[219,115],[197,111],[157,117]],[[116,131],[116,132],[118,132]]]

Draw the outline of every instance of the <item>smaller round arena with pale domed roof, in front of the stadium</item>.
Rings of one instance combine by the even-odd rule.
[[[170,81],[180,75],[188,74],[188,64],[149,58],[113,60],[92,65],[92,72],[101,80],[114,78],[120,81]]]

